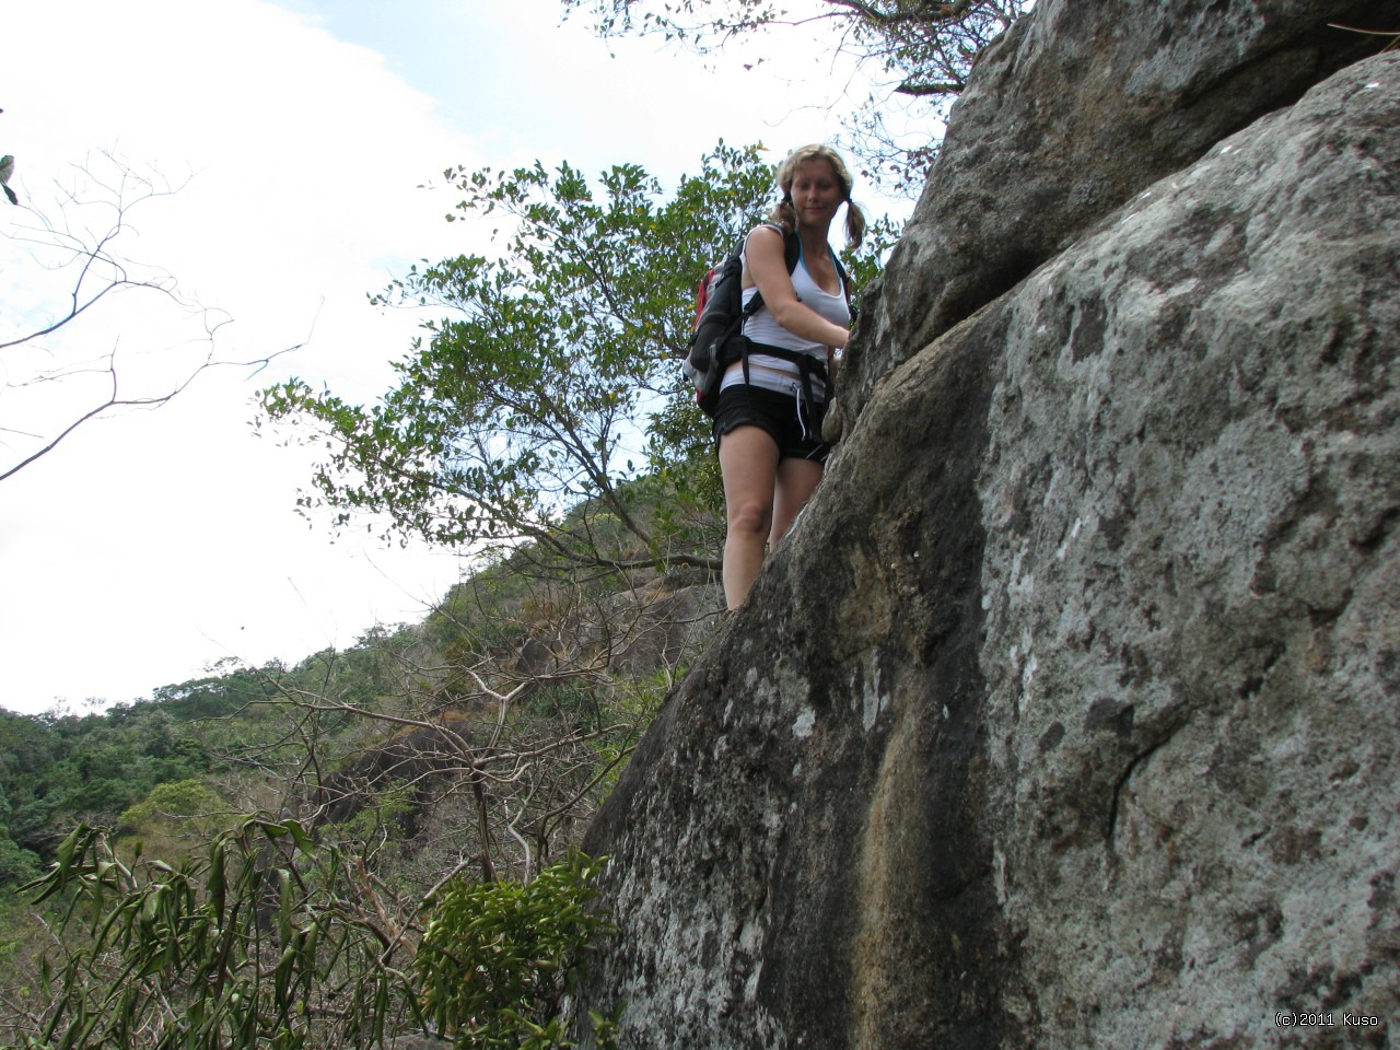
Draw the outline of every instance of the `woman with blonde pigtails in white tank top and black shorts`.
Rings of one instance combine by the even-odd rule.
[[[745,321],[750,346],[725,371],[714,420],[724,476],[722,575],[729,609],[753,587],[764,545],[783,539],[822,480],[830,452],[822,442],[827,385],[820,367],[813,374],[797,356],[834,374],[834,354],[850,339],[850,307],[827,231],[844,204],[847,242],[858,245],[865,232],[865,218],[851,202],[850,172],[834,150],[794,150],[778,168],[777,183],[783,200],[773,223],[749,231],[743,245],[743,302],[762,293],[763,305]],[[801,255],[790,276],[784,237],[794,232]],[[764,347],[785,353],[764,354]]]

